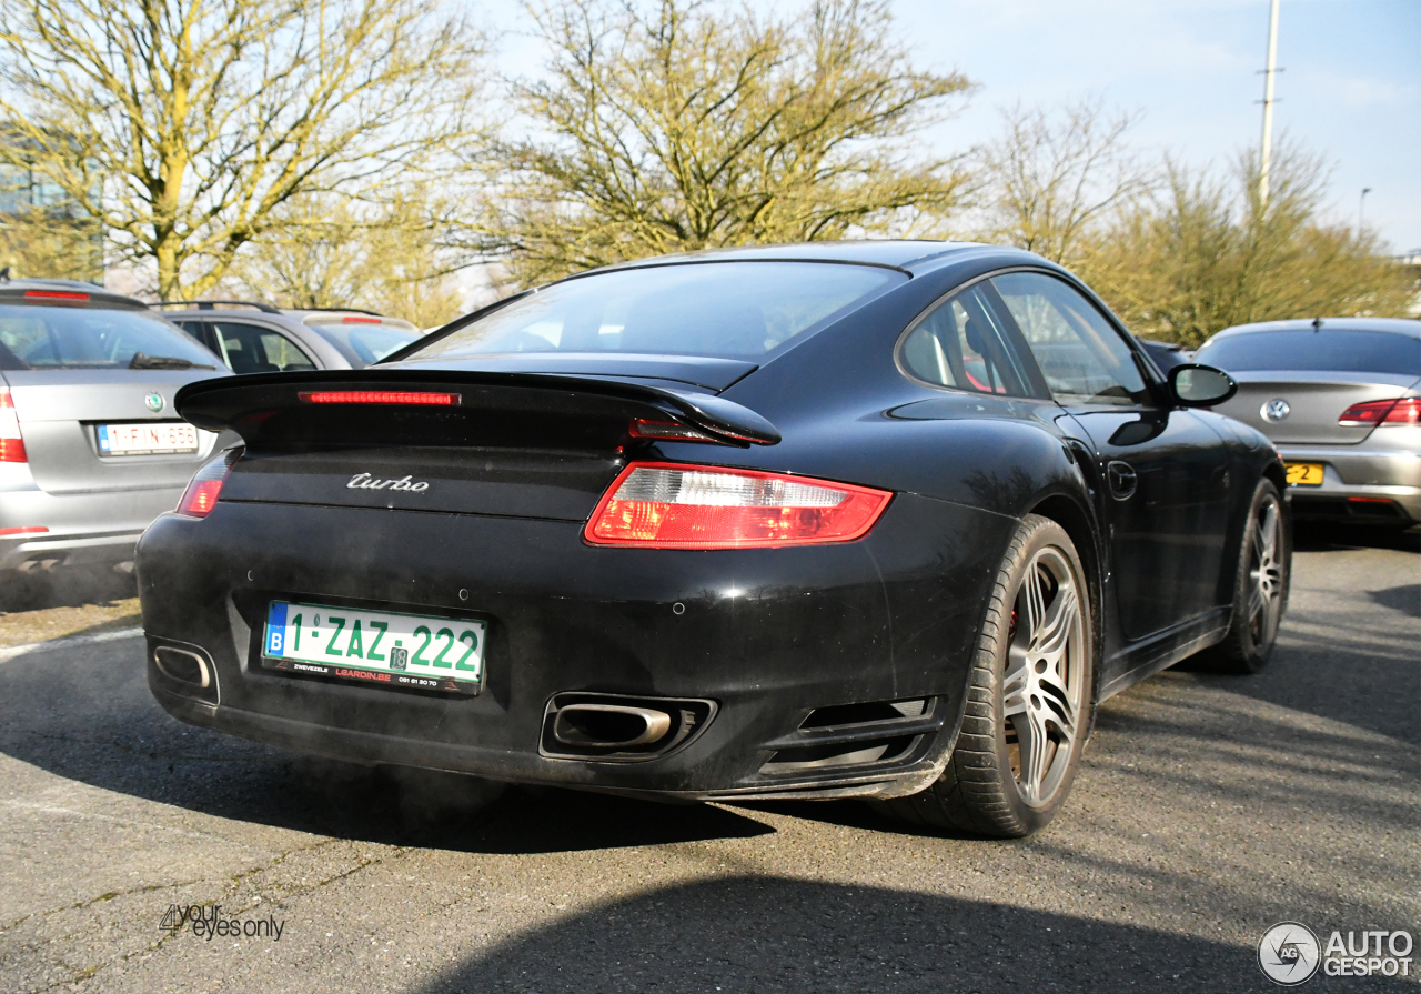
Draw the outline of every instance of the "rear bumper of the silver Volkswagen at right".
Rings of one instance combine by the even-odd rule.
[[[1421,452],[1337,445],[1279,445],[1277,451],[1285,462],[1323,465],[1320,486],[1287,488],[1295,518],[1421,520]]]

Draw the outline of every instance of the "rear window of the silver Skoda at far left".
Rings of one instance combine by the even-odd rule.
[[[135,357],[138,357],[135,360]],[[159,317],[138,310],[0,304],[7,370],[219,368],[220,360]]]

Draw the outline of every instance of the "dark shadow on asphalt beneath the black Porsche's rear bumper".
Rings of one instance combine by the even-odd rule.
[[[141,638],[28,651],[0,663],[0,752],[72,781],[219,818],[470,853],[577,852],[774,830],[723,808],[360,766],[185,725],[149,694]]]

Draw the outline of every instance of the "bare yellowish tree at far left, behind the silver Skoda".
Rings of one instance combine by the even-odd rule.
[[[0,0],[0,164],[215,286],[298,193],[374,195],[470,138],[483,38],[419,0]]]

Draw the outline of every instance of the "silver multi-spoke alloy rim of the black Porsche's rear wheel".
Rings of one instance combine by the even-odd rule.
[[[1002,681],[1012,772],[1022,801],[1033,808],[1050,802],[1070,768],[1086,651],[1070,560],[1047,546],[1032,557],[1016,592]]]

